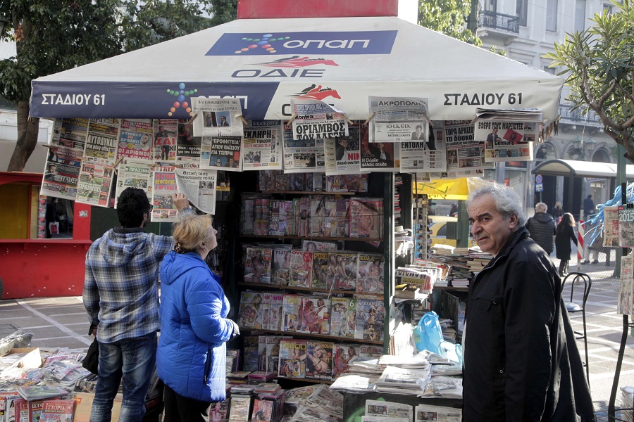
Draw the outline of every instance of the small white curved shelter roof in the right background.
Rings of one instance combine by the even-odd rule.
[[[544,176],[616,177],[616,164],[575,160],[547,160],[535,167],[533,174]],[[634,165],[626,166],[626,177],[634,179]]]

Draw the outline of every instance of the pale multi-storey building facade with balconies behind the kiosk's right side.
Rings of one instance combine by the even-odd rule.
[[[518,62],[558,74],[563,69],[550,68],[551,60],[544,57],[554,52],[554,43],[564,41],[566,33],[585,30],[592,26],[595,13],[609,12],[614,6],[609,0],[478,0],[475,8],[476,34],[483,48],[495,46],[506,52],[506,57]],[[531,171],[543,160],[563,159],[595,162],[616,162],[616,142],[603,133],[603,124],[594,113],[582,116],[572,112],[566,101],[568,87],[564,86],[559,113],[559,132],[535,148],[535,160],[526,168],[507,163],[487,175],[497,181],[506,181],[521,198],[526,198],[527,210],[537,202],[549,209],[556,201],[566,203],[568,178],[543,177],[543,191],[535,191],[535,177]],[[573,184],[574,200],[566,209],[578,215],[581,200],[592,195],[595,203],[611,198],[614,181],[611,179],[579,179]],[[539,189],[538,189],[539,190]]]

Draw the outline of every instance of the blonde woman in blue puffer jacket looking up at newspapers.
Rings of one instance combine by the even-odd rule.
[[[161,336],[156,370],[165,383],[163,421],[207,421],[225,399],[225,342],[240,334],[229,301],[204,259],[216,248],[209,215],[174,225],[174,250],[161,265]]]

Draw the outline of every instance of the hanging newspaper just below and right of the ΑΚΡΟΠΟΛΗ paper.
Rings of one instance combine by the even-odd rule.
[[[440,131],[442,134],[442,131]],[[402,172],[444,172],[447,170],[445,139],[440,136],[430,136],[430,143],[435,148],[425,148],[423,141],[409,141],[397,143],[398,155],[401,158]]]

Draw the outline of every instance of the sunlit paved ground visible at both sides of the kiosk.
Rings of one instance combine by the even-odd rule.
[[[571,267],[571,271],[574,267]],[[623,316],[616,314],[616,288],[614,283],[596,280],[586,304],[588,354],[590,360],[590,389],[598,420],[607,421],[607,409],[619,353]],[[573,302],[581,302],[582,292],[575,289]],[[569,287],[564,298],[570,298]],[[572,313],[575,331],[583,331],[580,312]],[[0,301],[0,337],[23,328],[33,333],[32,347],[55,349],[70,347],[87,349],[92,337],[87,335],[88,319],[82,298],[29,298]],[[578,340],[582,357],[583,343]],[[628,335],[623,357],[619,387],[634,385],[634,337]],[[621,403],[621,390],[616,395],[616,407]],[[617,414],[618,416],[618,414]]]

